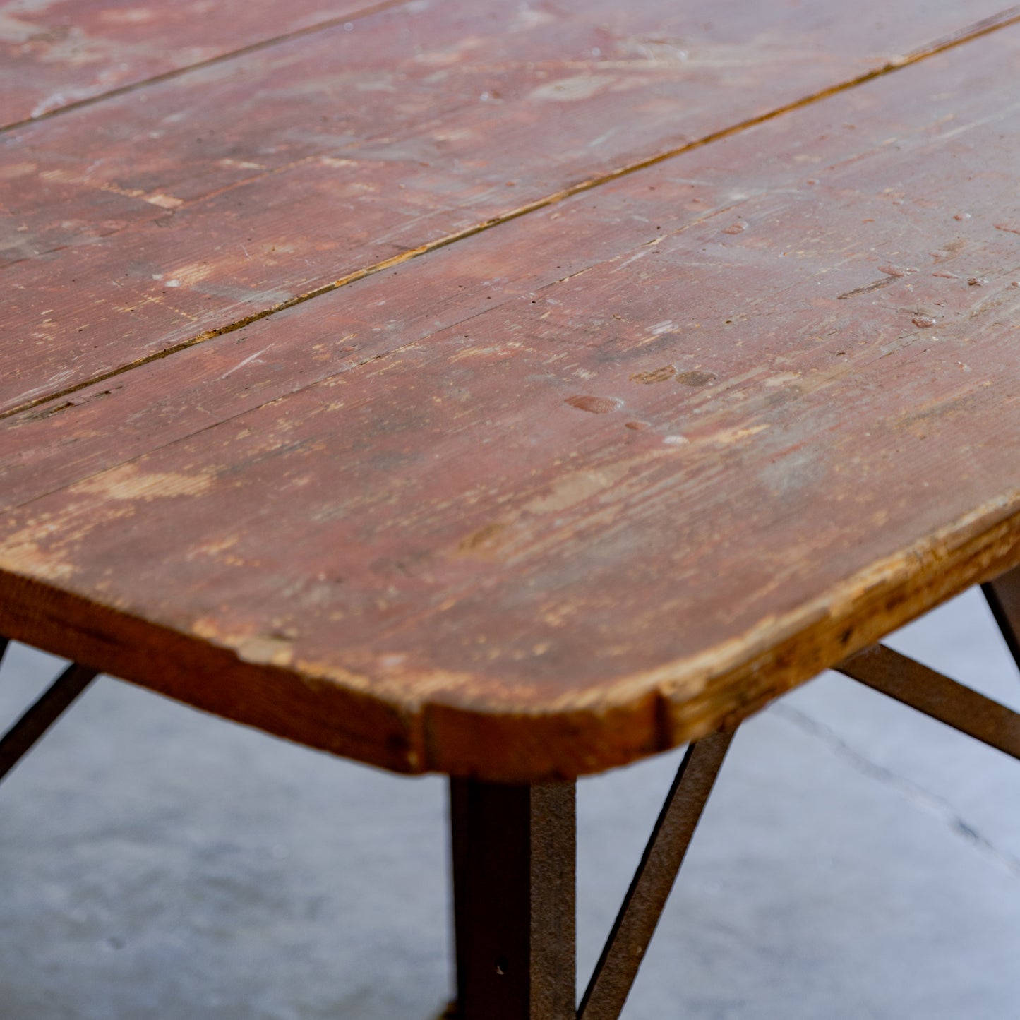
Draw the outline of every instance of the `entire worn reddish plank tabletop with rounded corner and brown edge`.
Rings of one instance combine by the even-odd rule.
[[[0,632],[567,777],[1020,562],[1020,11],[0,3]]]

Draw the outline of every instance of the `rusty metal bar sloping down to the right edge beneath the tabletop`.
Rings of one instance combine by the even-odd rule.
[[[884,645],[872,645],[833,668],[961,733],[1020,758],[1020,713]]]

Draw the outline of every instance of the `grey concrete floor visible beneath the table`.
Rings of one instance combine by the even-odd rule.
[[[1020,708],[971,592],[894,647]],[[0,719],[59,667],[12,647]],[[579,784],[586,978],[677,754]],[[0,789],[2,1020],[426,1020],[446,787],[101,679]],[[1020,1015],[1020,765],[825,674],[734,741],[624,1016]]]

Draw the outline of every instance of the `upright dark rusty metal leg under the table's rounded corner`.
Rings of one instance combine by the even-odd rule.
[[[451,779],[459,1020],[573,1020],[574,798]]]

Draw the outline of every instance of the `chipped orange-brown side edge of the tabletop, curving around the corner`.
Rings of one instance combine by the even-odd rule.
[[[572,778],[732,728],[775,698],[972,584],[1020,565],[1020,489],[783,617],[653,671],[522,709],[372,694],[246,661],[0,569],[0,633],[214,715],[401,773]]]

